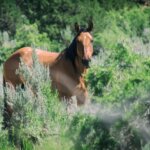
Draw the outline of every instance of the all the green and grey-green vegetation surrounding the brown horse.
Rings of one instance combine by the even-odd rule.
[[[25,90],[7,88],[15,112],[0,150],[150,150],[149,0],[0,0],[0,65],[18,48],[62,51],[74,23],[94,22],[86,81],[91,104],[70,108],[50,90],[48,70],[21,64]],[[35,78],[33,78],[35,77]],[[32,82],[31,82],[32,81]],[[35,98],[30,85],[37,91]],[[3,88],[0,79],[0,128]]]

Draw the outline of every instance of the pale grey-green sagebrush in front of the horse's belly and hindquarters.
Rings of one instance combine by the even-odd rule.
[[[13,107],[9,140],[23,149],[32,149],[43,137],[63,133],[67,120],[65,107],[51,90],[49,70],[36,56],[33,60],[31,68],[21,62],[17,70],[26,81],[24,89],[10,85],[5,89],[7,102]]]

